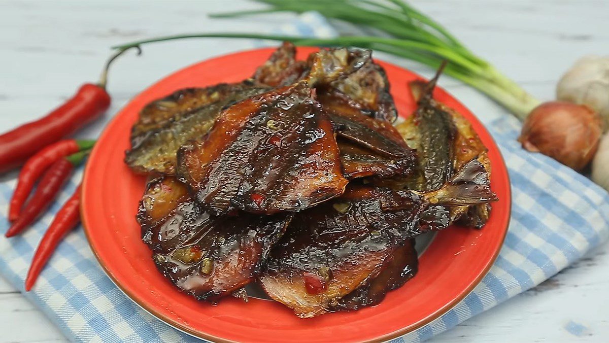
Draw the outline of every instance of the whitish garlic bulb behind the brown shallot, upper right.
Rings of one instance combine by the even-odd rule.
[[[556,87],[560,101],[587,105],[609,128],[609,56],[582,57],[561,77]]]

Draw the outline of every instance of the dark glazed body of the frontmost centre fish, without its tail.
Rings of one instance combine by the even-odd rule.
[[[331,311],[340,299],[382,271],[385,260],[409,235],[418,233],[421,197],[403,198],[390,189],[349,186],[342,197],[295,216],[273,247],[262,288],[298,317]],[[345,213],[335,207],[345,204]],[[392,211],[384,212],[384,207]],[[305,274],[328,270],[325,289],[309,294]]]

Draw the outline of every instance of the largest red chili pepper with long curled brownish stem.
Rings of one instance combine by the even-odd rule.
[[[104,113],[110,107],[110,95],[105,90],[108,67],[126,50],[110,57],[99,84],[85,83],[71,99],[48,115],[0,135],[0,172],[20,166],[43,147],[74,133]]]

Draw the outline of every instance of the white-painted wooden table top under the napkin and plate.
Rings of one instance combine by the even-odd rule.
[[[608,1],[417,1],[477,54],[540,99],[576,58],[609,55]],[[268,32],[270,21],[212,20],[206,13],[259,7],[252,2],[0,1],[0,131],[37,118],[80,83],[95,81],[108,47],[180,32]],[[286,22],[290,16],[283,17]],[[273,19],[274,24],[281,20]],[[108,115],[82,133],[93,137],[138,91],[161,76],[214,55],[239,40],[189,40],[144,47],[113,66]],[[400,65],[429,76],[425,68]],[[479,115],[505,115],[493,102],[448,77],[441,82]],[[609,341],[609,248],[591,252],[542,285],[470,319],[435,341]],[[569,330],[583,325],[576,334]],[[0,278],[0,342],[65,341],[38,309]]]

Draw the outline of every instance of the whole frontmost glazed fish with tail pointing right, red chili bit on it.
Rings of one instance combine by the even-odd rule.
[[[485,175],[482,164],[473,160],[430,193],[350,185],[341,197],[295,216],[267,261],[264,290],[299,317],[340,308],[343,297],[371,285],[368,281],[382,275],[386,261],[427,229],[420,225],[424,210],[496,200]],[[432,214],[426,214],[426,224],[448,225],[448,211],[436,211],[430,221]],[[351,300],[343,306],[355,306]]]

